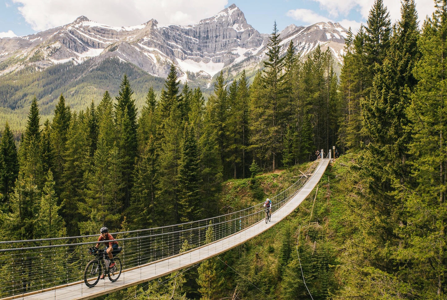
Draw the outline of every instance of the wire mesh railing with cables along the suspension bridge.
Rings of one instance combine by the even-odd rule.
[[[272,213],[286,204],[310,179],[319,160],[304,175],[272,200]],[[114,232],[122,246],[124,268],[140,267],[221,240],[265,218],[263,202],[213,218],[164,227]],[[212,236],[207,230],[212,228]],[[40,240],[0,241],[0,297],[56,287],[82,280],[93,259],[88,249],[98,235]]]

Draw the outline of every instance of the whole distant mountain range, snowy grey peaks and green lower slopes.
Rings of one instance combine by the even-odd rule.
[[[338,23],[292,24],[280,32],[282,50],[293,40],[296,51],[306,56],[320,45],[341,62],[346,33]],[[112,27],[81,16],[37,34],[0,39],[0,113],[26,116],[34,94],[44,114],[52,112],[61,93],[72,107],[86,107],[105,90],[114,94],[123,73],[129,72],[138,74],[137,81],[131,76],[131,84],[138,91],[135,96],[143,99],[148,82],[161,89],[171,63],[177,65],[181,81],[207,93],[222,69],[229,81],[243,69],[253,77],[263,67],[268,41],[269,34],[249,25],[235,4],[188,26],[152,19]]]

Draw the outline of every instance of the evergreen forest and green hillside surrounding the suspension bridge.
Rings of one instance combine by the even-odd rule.
[[[340,81],[319,47],[303,61],[291,42],[281,56],[274,24],[253,82],[243,72],[227,85],[221,72],[207,101],[174,65],[160,93],[150,81],[141,99],[129,69],[79,112],[62,85],[52,120],[36,95],[19,148],[13,122],[1,137],[0,239],[223,214],[285,188],[336,144],[345,155],[316,197],[275,231],[108,298],[445,299],[447,0],[436,4],[418,25],[404,0],[392,25],[375,0],[350,30]]]

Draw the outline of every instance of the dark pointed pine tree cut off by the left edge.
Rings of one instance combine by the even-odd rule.
[[[0,141],[0,210],[8,210],[14,182],[19,175],[19,162],[13,133],[6,122]]]

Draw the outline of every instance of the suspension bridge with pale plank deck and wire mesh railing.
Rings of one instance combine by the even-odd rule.
[[[116,282],[95,287],[83,281],[93,256],[88,249],[98,235],[42,240],[0,241],[0,300],[92,299],[193,266],[232,249],[291,214],[316,187],[331,160],[331,151],[311,164],[289,188],[270,198],[271,222],[264,222],[263,202],[214,218],[171,226],[115,232],[124,270]],[[212,228],[212,235],[209,228]]]

